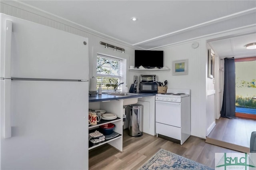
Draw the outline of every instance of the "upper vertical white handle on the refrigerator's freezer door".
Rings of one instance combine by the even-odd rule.
[[[6,20],[4,45],[4,78],[11,78],[12,21]]]

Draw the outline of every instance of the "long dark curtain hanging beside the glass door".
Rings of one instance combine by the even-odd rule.
[[[236,118],[236,75],[235,59],[224,58],[224,92],[220,111],[221,117]]]

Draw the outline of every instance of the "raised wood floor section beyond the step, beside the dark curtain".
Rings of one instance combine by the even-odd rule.
[[[252,131],[256,131],[256,120],[220,117],[216,119],[216,126],[207,136],[206,142],[249,152]]]

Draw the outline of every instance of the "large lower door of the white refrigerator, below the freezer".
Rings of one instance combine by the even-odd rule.
[[[12,81],[1,169],[88,169],[87,113],[88,82]]]

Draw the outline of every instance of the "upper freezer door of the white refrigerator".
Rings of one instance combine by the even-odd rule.
[[[88,38],[0,15],[1,61],[11,61],[0,63],[1,74],[4,69],[18,78],[88,80]]]

